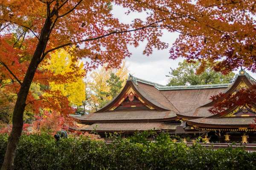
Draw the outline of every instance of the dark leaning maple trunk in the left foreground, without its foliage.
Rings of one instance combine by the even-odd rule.
[[[53,11],[52,11],[53,12]],[[51,19],[47,18],[44,27],[41,30],[41,36],[39,38],[38,45],[35,49],[29,68],[26,71],[26,75],[20,86],[20,91],[18,93],[17,101],[15,103],[15,108],[12,116],[12,131],[8,138],[8,144],[6,148],[6,153],[3,161],[1,170],[11,170],[15,158],[15,152],[17,149],[17,144],[20,139],[20,135],[23,128],[23,113],[26,107],[26,98],[29,93],[29,87],[35,75],[35,71],[40,63],[40,57],[44,52],[44,47],[47,45],[47,36],[50,32],[52,25]]]

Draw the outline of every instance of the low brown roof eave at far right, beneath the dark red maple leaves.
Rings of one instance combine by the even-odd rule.
[[[239,128],[247,127],[250,128],[250,124],[253,123],[255,117],[244,118],[244,117],[232,117],[232,118],[200,118],[194,120],[186,120],[188,125],[198,127],[215,127],[215,128]]]

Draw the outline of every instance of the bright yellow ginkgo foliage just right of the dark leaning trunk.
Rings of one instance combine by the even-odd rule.
[[[44,68],[52,71],[55,75],[64,76],[73,72],[74,74],[70,74],[70,77],[64,83],[61,83],[63,81],[49,82],[49,88],[54,91],[60,91],[63,96],[67,97],[70,105],[82,105],[82,101],[85,99],[85,83],[83,81],[85,71],[82,62],[79,62],[67,51],[61,49],[51,54],[48,65],[44,66]]]

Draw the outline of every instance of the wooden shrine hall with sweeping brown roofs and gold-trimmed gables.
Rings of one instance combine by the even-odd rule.
[[[83,124],[79,130],[122,133],[155,130],[190,140],[199,136],[221,143],[256,143],[256,131],[250,127],[256,119],[256,105],[227,109],[225,115],[213,115],[210,96],[220,92],[236,93],[251,87],[256,80],[240,70],[232,84],[165,86],[129,76],[125,87],[107,105],[94,113],[76,116]]]

